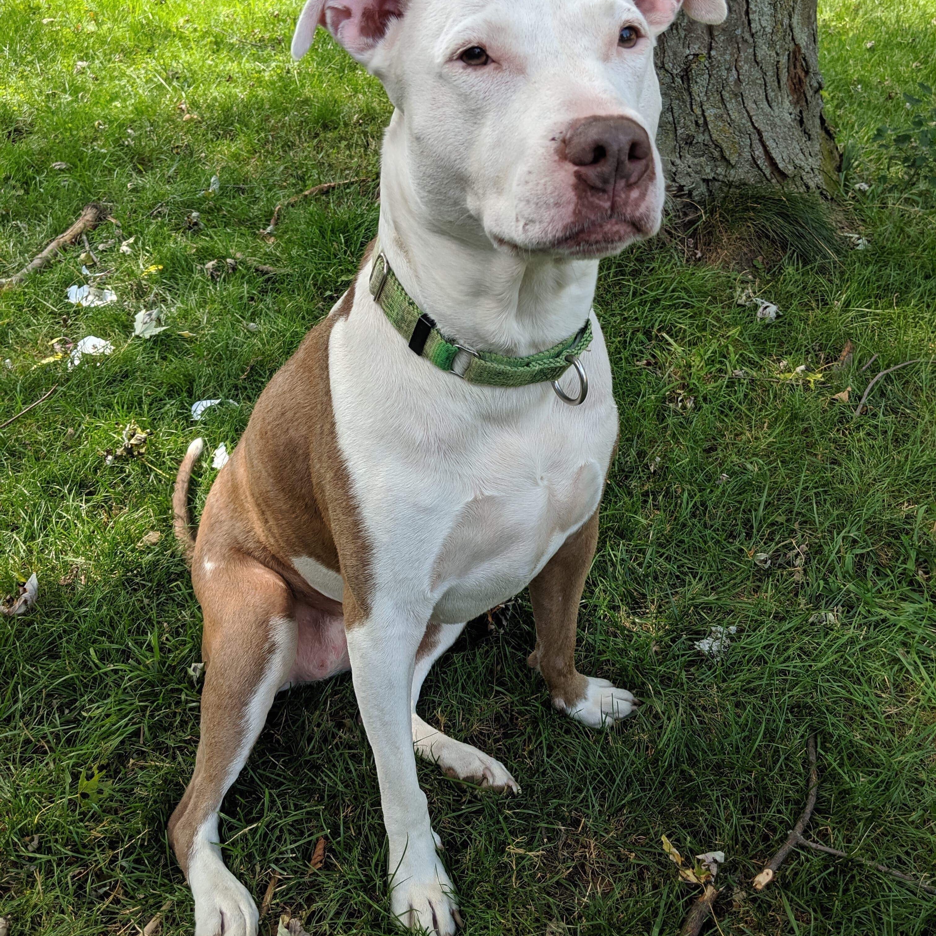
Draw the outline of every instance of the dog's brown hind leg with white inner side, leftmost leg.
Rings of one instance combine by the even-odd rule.
[[[197,560],[205,617],[201,739],[169,841],[195,898],[196,936],[256,936],[256,904],[221,857],[218,810],[293,664],[296,622],[291,593],[270,569],[236,554]]]

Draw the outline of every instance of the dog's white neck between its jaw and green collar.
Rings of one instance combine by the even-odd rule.
[[[401,137],[391,124],[381,170],[381,249],[446,338],[528,355],[578,331],[592,307],[598,262],[514,256],[496,249],[474,218],[440,222],[440,212],[414,190]]]

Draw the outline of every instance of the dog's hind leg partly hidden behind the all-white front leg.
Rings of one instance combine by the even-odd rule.
[[[413,747],[420,757],[438,764],[449,777],[475,782],[486,789],[519,793],[510,771],[493,757],[444,735],[426,724],[416,713],[419,690],[432,664],[455,642],[464,624],[430,624],[419,644],[413,671]]]

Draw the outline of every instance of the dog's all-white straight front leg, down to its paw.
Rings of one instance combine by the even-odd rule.
[[[435,853],[426,795],[419,788],[411,687],[426,618],[376,601],[358,615],[345,597],[355,694],[380,783],[389,843],[390,906],[404,927],[451,936],[459,920],[454,888]],[[428,614],[427,614],[428,617]]]

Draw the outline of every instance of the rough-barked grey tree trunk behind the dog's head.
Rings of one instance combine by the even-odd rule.
[[[728,0],[706,26],[680,16],[660,37],[667,181],[693,201],[726,186],[824,192],[838,151],[822,111],[816,0]]]

